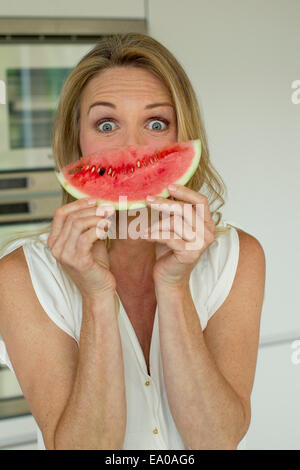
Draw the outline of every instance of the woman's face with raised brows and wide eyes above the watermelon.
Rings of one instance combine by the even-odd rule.
[[[99,104],[101,102],[101,104]],[[137,67],[104,70],[80,102],[82,155],[114,146],[177,141],[176,113],[165,85]]]

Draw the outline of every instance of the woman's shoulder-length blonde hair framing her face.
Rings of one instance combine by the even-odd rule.
[[[204,124],[196,94],[184,69],[171,52],[150,36],[140,33],[118,34],[102,38],[76,65],[67,77],[61,90],[58,109],[52,129],[52,149],[57,169],[81,157],[79,144],[80,99],[87,83],[105,69],[112,67],[141,67],[158,77],[169,90],[177,116],[178,141],[200,139],[202,155],[199,167],[186,184],[187,187],[206,193],[212,218],[216,225],[215,237],[227,232],[229,227],[219,226],[222,214],[218,210],[224,205],[223,195],[227,189],[219,173],[213,167],[207,144]],[[62,188],[62,205],[75,199]],[[218,207],[212,209],[215,202]],[[19,232],[9,237],[5,247],[23,237],[33,237],[51,231],[48,227]],[[106,248],[111,240],[105,239]]]

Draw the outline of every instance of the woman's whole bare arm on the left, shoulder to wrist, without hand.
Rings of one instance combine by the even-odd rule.
[[[113,293],[83,298],[80,348],[41,307],[22,247],[0,261],[0,299],[0,333],[46,448],[122,448],[126,400]]]

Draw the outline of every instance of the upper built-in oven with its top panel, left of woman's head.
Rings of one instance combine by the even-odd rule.
[[[129,31],[145,33],[145,21],[0,17],[0,171],[53,168],[51,129],[66,77],[101,37]]]

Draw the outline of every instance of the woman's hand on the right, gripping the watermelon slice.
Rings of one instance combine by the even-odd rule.
[[[168,188],[173,200],[155,197],[150,202],[147,198],[151,209],[169,218],[169,224],[164,226],[158,218],[142,238],[157,243],[155,284],[182,286],[188,284],[202,253],[214,242],[215,224],[205,196],[186,186],[173,186],[175,191]]]

